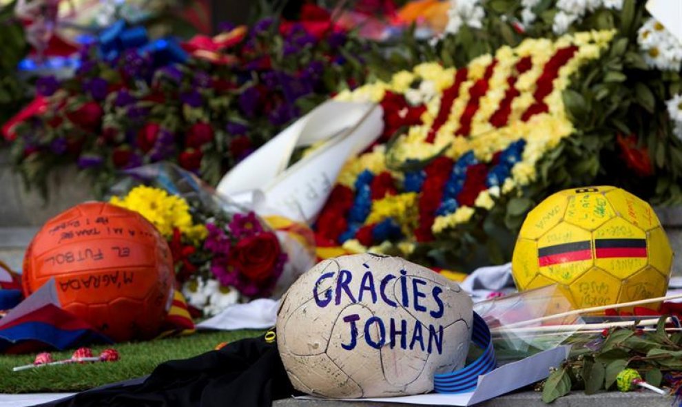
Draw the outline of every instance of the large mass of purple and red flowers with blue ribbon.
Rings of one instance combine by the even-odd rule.
[[[304,8],[304,22],[308,14],[315,24],[267,18],[185,43],[114,23],[81,51],[72,79],[41,79],[41,109],[6,132],[17,169],[44,187],[54,167],[75,163],[101,194],[115,171],[167,160],[215,185],[293,119],[366,77],[364,43],[324,10]]]

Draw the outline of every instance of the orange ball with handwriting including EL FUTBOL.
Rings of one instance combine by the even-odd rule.
[[[118,342],[158,335],[173,298],[167,242],[138,213],[104,202],[60,213],[33,238],[24,295],[50,278],[63,309]]]

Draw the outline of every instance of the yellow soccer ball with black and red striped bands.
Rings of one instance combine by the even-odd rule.
[[[616,187],[585,187],[557,192],[528,213],[512,272],[519,291],[556,283],[574,306],[588,308],[665,295],[672,256],[647,202]]]

